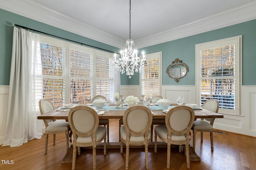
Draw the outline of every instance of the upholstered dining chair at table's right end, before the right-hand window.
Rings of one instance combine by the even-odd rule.
[[[216,99],[206,100],[202,106],[204,109],[218,113],[219,102]],[[210,132],[211,150],[213,150],[213,123],[215,118],[196,119],[192,126],[193,130],[193,149],[196,150],[196,132],[201,132],[201,142],[203,142],[203,132]]]

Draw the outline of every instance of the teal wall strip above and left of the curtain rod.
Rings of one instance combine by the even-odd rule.
[[[120,51],[120,49],[116,47],[0,9],[0,86],[9,85],[10,81],[13,34],[12,23],[108,51]]]

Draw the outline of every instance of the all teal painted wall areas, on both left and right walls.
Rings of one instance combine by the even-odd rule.
[[[12,23],[67,39],[72,39],[80,43],[92,45],[109,51],[119,51],[116,47],[0,9],[0,85],[9,85],[12,57]],[[242,35],[242,85],[255,86],[256,74],[254,73],[254,67],[256,63],[256,20],[200,33],[166,43],[152,45],[150,47],[140,49],[140,51],[143,50],[146,54],[162,51],[163,85],[195,85],[195,45],[198,43],[234,37],[237,35]],[[169,78],[166,74],[167,67],[176,58],[186,63],[189,68],[188,74],[178,83]],[[130,79],[125,74],[121,74],[121,85],[138,85],[139,78],[140,76],[138,73],[135,73],[135,75]]]

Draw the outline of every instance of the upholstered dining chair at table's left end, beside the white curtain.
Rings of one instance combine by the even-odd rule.
[[[39,109],[41,115],[44,113],[47,113],[49,111],[54,110],[54,106],[52,102],[48,99],[41,99],[39,100]],[[65,120],[52,120],[52,119],[44,119],[44,125],[45,125],[45,149],[44,154],[47,153],[47,147],[48,147],[48,134],[53,135],[53,145],[55,145],[55,134],[57,133],[65,133],[66,135],[66,150],[68,150],[68,131],[70,130],[70,126],[68,122]]]

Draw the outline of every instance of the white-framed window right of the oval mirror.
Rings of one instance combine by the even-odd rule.
[[[232,37],[196,45],[198,103],[218,100],[220,113],[239,114],[240,41]]]

